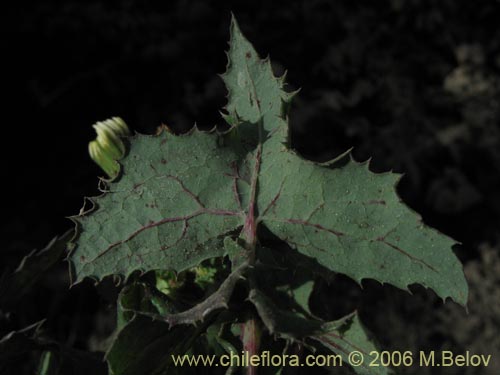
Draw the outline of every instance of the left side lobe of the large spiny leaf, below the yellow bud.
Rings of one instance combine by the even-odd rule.
[[[71,254],[73,279],[182,271],[223,254],[221,239],[243,223],[234,196],[234,150],[215,132],[130,140],[122,175],[91,201]]]

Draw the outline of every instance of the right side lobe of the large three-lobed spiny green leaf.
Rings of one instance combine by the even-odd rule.
[[[293,153],[273,154],[260,179],[263,223],[330,270],[402,289],[420,283],[465,304],[467,284],[451,247],[400,202],[399,176],[374,174],[368,163],[328,169]],[[293,166],[283,168],[279,166]],[[307,186],[305,189],[304,187]]]

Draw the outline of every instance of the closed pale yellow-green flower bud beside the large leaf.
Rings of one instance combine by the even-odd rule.
[[[127,124],[121,118],[113,117],[92,126],[97,138],[89,143],[90,157],[109,177],[115,178],[120,172],[116,161],[125,155],[122,137],[130,134]]]

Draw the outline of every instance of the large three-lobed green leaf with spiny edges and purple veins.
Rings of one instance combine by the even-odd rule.
[[[343,163],[303,159],[289,145],[293,94],[234,20],[228,56],[230,131],[131,138],[121,176],[92,200],[91,212],[75,218],[74,279],[181,271],[225,254],[224,237],[237,233],[251,256],[263,225],[358,282],[372,278],[402,289],[420,283],[465,304],[455,241],[401,203],[400,176],[372,173],[347,154]]]

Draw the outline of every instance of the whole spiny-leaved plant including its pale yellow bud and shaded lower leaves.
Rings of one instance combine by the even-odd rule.
[[[228,59],[229,130],[195,126],[175,135],[163,127],[127,138],[125,152],[123,121],[96,125],[91,154],[114,179],[73,218],[69,260],[73,283],[108,276],[125,283],[106,354],[110,373],[199,373],[173,355],[266,350],[333,353],[346,366],[356,350],[365,359],[353,371],[390,373],[369,367],[376,347],[356,313],[338,321],[315,314],[315,283],[338,273],[404,290],[421,284],[465,305],[456,242],[401,202],[399,175],[372,173],[349,152],[319,164],[290,148],[295,93],[234,19]],[[246,365],[206,371],[290,369]]]

